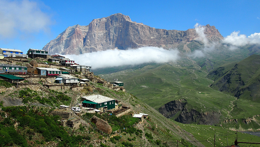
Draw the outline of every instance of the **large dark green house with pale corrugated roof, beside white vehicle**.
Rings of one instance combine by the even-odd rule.
[[[103,95],[90,95],[81,97],[82,106],[86,109],[95,108],[106,111],[115,108],[115,99]]]

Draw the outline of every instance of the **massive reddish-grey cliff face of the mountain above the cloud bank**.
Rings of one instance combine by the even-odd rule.
[[[222,35],[214,26],[206,25],[204,33],[209,41],[220,41]],[[50,54],[83,54],[99,50],[156,46],[175,48],[198,38],[195,29],[186,31],[156,29],[131,21],[129,16],[113,14],[94,19],[88,26],[68,27],[56,39],[47,43],[43,50]],[[183,48],[183,50],[189,50]]]

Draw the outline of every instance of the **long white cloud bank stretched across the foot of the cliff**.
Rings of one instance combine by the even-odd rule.
[[[137,65],[142,63],[166,63],[179,59],[178,50],[165,50],[157,47],[142,47],[129,50],[105,50],[82,55],[63,55],[75,60],[75,63],[105,68],[121,65]]]

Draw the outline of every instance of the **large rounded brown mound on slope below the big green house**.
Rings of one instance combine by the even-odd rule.
[[[91,118],[91,122],[96,124],[96,127],[107,133],[107,134],[111,134],[112,133],[112,128],[111,126],[108,124],[108,122],[104,121],[103,119],[100,119],[98,117],[96,117],[95,115]]]

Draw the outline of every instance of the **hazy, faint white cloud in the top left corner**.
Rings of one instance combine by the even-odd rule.
[[[41,10],[42,6],[44,6],[43,3],[28,0],[0,0],[0,36],[8,38],[18,32],[31,33],[48,30],[51,20]]]

